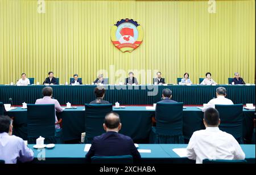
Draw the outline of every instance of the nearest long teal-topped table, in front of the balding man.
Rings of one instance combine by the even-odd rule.
[[[85,144],[55,144],[52,149],[36,150],[28,144],[34,151],[34,160],[36,164],[83,164],[88,163],[85,160],[87,152],[84,151]],[[151,150],[150,153],[141,152],[141,163],[195,163],[187,157],[180,157],[174,151],[174,148],[186,148],[187,144],[139,144],[138,149]],[[241,144],[245,152],[247,163],[255,164],[255,144]]]

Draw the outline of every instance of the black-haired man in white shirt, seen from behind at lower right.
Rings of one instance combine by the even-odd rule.
[[[195,131],[187,146],[188,159],[196,160],[197,164],[204,159],[243,160],[240,144],[231,135],[221,131],[218,110],[208,108],[204,113],[205,130]]]

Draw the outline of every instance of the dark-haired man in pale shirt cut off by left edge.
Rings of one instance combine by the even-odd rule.
[[[0,116],[0,160],[6,164],[24,163],[34,159],[34,152],[22,138],[13,134],[13,121],[8,116]]]

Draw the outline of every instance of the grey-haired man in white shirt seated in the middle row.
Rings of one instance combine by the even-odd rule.
[[[207,104],[204,105],[202,111],[205,112],[208,108],[215,108],[215,105],[233,105],[233,101],[226,99],[226,89],[224,87],[218,87],[216,89],[216,99],[210,100]]]

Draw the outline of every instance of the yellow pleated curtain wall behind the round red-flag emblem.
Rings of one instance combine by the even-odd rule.
[[[217,83],[240,72],[255,78],[255,1],[44,1],[0,0],[0,84],[16,82],[22,72],[42,83],[53,71],[60,83],[78,73],[91,83],[98,70],[130,70],[140,83],[161,71],[167,83],[189,72],[193,83],[210,71]],[[144,31],[142,45],[122,53],[110,40],[110,28],[131,18]],[[119,71],[118,71],[119,70]],[[116,76],[116,77],[115,77]]]

